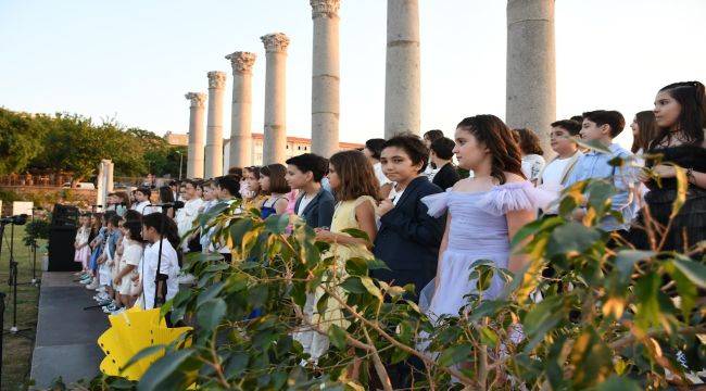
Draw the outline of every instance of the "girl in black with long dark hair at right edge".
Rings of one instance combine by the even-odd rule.
[[[655,99],[655,122],[659,128],[657,137],[650,142],[647,171],[640,179],[650,188],[645,203],[652,218],[667,227],[671,205],[678,195],[677,172],[673,165],[686,171],[689,191],[686,202],[681,207],[667,232],[656,232],[654,242],[644,229],[633,227],[630,234],[632,243],[640,249],[658,245],[663,239],[663,251],[685,252],[702,240],[706,240],[706,92],[699,81],[670,84],[657,92]],[[669,163],[669,164],[665,164]],[[639,216],[640,227],[644,217]],[[664,238],[666,236],[666,238]]]

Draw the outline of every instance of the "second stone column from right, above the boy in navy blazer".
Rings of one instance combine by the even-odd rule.
[[[388,0],[384,138],[419,134],[419,3]]]

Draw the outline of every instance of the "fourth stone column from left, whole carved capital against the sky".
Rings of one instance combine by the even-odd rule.
[[[289,38],[282,33],[260,38],[265,45],[265,140],[263,164],[285,163],[287,160],[287,47]]]

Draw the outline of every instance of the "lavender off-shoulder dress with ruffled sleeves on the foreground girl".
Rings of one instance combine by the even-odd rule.
[[[468,303],[467,294],[476,292],[476,280],[470,279],[470,265],[478,260],[490,260],[495,267],[507,268],[510,245],[505,214],[512,211],[538,210],[554,200],[547,191],[537,189],[529,181],[494,186],[480,192],[458,192],[451,189],[421,199],[429,215],[451,214],[449,243],[439,267],[439,288],[436,294],[432,280],[421,292],[420,307],[432,318],[458,315]],[[484,299],[496,298],[504,280],[494,274]],[[431,298],[433,295],[433,298]]]

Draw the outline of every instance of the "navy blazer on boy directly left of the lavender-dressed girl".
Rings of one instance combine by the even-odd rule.
[[[373,276],[395,285],[414,283],[417,293],[437,274],[437,258],[443,237],[445,215],[429,216],[424,197],[442,192],[426,176],[413,179],[398,204],[382,217],[375,238],[374,254],[391,270],[373,270]]]

